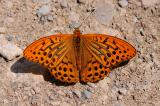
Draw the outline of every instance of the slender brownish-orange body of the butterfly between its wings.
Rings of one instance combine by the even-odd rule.
[[[79,29],[75,29],[73,33],[73,46],[74,52],[76,54],[76,65],[78,70],[81,70],[81,54],[80,54],[80,42],[81,42],[81,32]]]

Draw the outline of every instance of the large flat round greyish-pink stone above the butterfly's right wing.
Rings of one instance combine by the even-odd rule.
[[[99,4],[95,10],[96,20],[103,24],[108,25],[114,16],[115,9],[111,4]]]

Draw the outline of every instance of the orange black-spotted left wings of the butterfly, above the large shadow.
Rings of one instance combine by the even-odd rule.
[[[41,38],[24,50],[24,57],[49,69],[57,80],[77,82],[79,73],[75,64],[72,36],[57,34]]]

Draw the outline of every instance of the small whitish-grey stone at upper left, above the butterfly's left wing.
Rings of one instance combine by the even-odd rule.
[[[48,5],[43,5],[37,10],[36,14],[38,15],[38,17],[42,17],[48,15],[50,11],[51,9]]]

